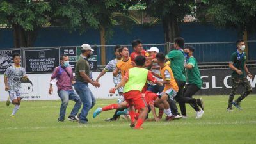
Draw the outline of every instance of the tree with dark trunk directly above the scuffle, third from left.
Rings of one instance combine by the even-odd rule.
[[[152,17],[162,20],[166,42],[173,42],[179,36],[178,22],[193,12],[194,0],[141,0],[146,5],[146,11]]]

